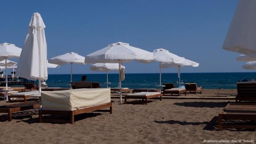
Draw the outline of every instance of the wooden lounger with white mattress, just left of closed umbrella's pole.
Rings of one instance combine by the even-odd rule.
[[[29,98],[30,95],[38,94],[39,91],[26,91],[26,92],[18,92],[14,94],[10,94],[8,96],[9,102],[26,102],[26,99]],[[13,98],[23,98],[23,100],[13,100]]]

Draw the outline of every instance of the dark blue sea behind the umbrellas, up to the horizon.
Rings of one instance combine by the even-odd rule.
[[[101,87],[106,87],[106,74],[86,74],[87,81],[99,82]],[[82,74],[73,75],[73,82],[81,81]],[[49,75],[48,87],[70,87],[70,75]],[[197,83],[197,86],[210,89],[236,89],[236,82],[242,79],[255,79],[255,72],[241,73],[181,73],[181,80],[184,83]],[[177,73],[162,73],[162,83],[177,83]],[[118,86],[118,74],[109,74],[110,87]],[[159,73],[128,73],[122,87],[128,88],[158,88]],[[178,84],[176,84],[176,87]]]

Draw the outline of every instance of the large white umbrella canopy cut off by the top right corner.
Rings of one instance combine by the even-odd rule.
[[[256,0],[239,0],[222,48],[256,57]]]

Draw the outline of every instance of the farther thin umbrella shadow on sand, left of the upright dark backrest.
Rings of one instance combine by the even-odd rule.
[[[174,105],[186,107],[225,107],[230,102],[176,102]]]

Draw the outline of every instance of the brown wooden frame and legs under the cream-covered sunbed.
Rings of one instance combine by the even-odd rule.
[[[73,110],[73,111],[60,111],[60,110],[39,110],[39,120],[38,122],[64,122],[64,123],[70,123],[70,124],[74,124],[74,116],[78,115],[78,114],[83,114],[83,113],[87,113],[90,111],[95,111],[95,110],[101,110],[104,108],[109,107],[109,112],[110,114],[112,114],[112,102],[109,103],[105,103],[102,105],[97,105],[97,106],[92,106],[92,107],[86,107],[84,109],[78,109],[78,110]],[[43,115],[62,115],[62,116],[69,116],[70,120],[59,120],[59,119],[47,119],[44,118]]]

